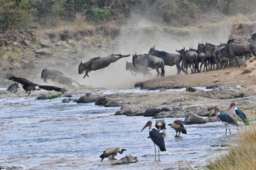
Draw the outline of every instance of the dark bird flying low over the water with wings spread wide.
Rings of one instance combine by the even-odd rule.
[[[28,93],[28,95],[31,94],[31,91],[40,90],[40,89],[45,89],[47,91],[58,91],[63,94],[67,91],[65,89],[61,89],[56,86],[34,84],[33,82],[29,81],[28,79],[25,79],[22,77],[15,77],[12,74],[5,74],[4,78],[12,80],[12,81],[16,81],[16,82],[22,84],[23,89],[26,91],[26,94]],[[39,89],[36,89],[36,87],[38,87]]]

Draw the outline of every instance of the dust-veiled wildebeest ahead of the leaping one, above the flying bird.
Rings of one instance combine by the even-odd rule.
[[[68,87],[72,87],[73,82],[81,86],[77,81],[65,76],[62,72],[54,69],[43,69],[41,72],[41,79],[43,79],[43,82],[47,82],[47,79],[50,79],[51,81],[55,81],[59,84],[63,84]]]

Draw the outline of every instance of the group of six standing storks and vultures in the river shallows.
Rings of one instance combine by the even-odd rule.
[[[225,113],[224,111],[220,111],[219,108],[215,108],[214,111],[212,111],[208,118],[210,118],[211,115],[215,114],[216,119],[218,122],[221,122],[225,125],[225,135],[227,135],[227,131],[230,128],[228,125],[234,125],[238,127],[238,122],[242,122],[245,125],[249,125],[249,120],[247,119],[247,116],[245,113],[243,113],[235,103],[231,103],[230,107],[227,109],[227,111],[231,108],[231,113]],[[165,120],[156,120],[155,128],[152,127],[152,121],[149,120],[146,125],[142,128],[144,130],[145,128],[149,127],[149,138],[151,138],[152,142],[154,143],[154,149],[155,149],[155,161],[156,161],[156,150],[158,150],[158,156],[160,161],[160,151],[165,152],[166,146],[164,143],[164,136],[165,136],[165,130],[166,130],[166,123]],[[171,126],[171,128],[174,128],[176,131],[176,135],[174,137],[180,137],[180,134],[187,134],[186,128],[183,125],[183,120],[174,120],[174,123],[169,123],[168,125]],[[142,131],[141,130],[141,131]],[[164,132],[160,132],[163,130]],[[231,132],[230,132],[231,135]],[[158,149],[156,149],[156,147]],[[108,159],[114,159],[114,156],[117,155],[117,153],[122,154],[122,152],[126,151],[127,149],[122,149],[121,152],[119,151],[119,147],[110,147],[109,149],[106,149],[102,155],[100,155],[101,162],[105,157],[108,157]]]

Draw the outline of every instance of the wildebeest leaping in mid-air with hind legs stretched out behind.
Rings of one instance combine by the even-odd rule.
[[[109,66],[112,62],[116,62],[122,57],[129,57],[130,55],[109,55],[107,57],[95,57],[85,63],[80,63],[78,67],[78,74],[85,72],[85,77],[89,77],[88,72],[95,71],[97,69],[103,69]]]

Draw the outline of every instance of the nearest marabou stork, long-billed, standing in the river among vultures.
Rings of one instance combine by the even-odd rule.
[[[159,147],[161,151],[166,151],[165,145],[164,145],[164,137],[157,131],[155,128],[152,128],[152,121],[149,120],[146,125],[142,128],[144,130],[146,127],[149,126],[149,137],[154,142],[154,148],[155,148],[155,161],[156,161],[156,145]],[[159,156],[160,161],[160,156]]]

